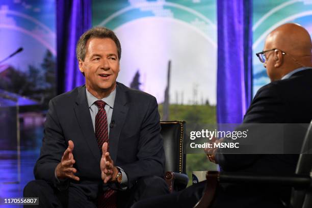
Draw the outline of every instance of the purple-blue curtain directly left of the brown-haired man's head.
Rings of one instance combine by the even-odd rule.
[[[92,0],[57,0],[58,94],[84,84],[75,55],[79,37],[91,28]]]

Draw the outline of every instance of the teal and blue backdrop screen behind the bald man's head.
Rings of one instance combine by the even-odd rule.
[[[255,55],[263,50],[266,36],[287,22],[301,24],[312,35],[311,20],[311,0],[253,1],[253,94],[270,82],[263,64]]]

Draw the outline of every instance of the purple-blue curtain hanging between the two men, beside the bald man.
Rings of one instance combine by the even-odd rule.
[[[241,123],[252,99],[252,0],[218,0],[217,122]]]

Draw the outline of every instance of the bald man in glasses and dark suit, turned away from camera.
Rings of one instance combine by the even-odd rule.
[[[243,123],[309,123],[312,119],[312,43],[298,24],[287,23],[272,31],[257,57],[271,83],[258,90]],[[302,132],[304,134],[304,132]],[[300,142],[300,135],[294,138]],[[303,136],[302,136],[303,137]],[[216,154],[219,153],[219,154]],[[209,159],[224,171],[257,174],[292,174],[297,154],[222,154],[209,151]],[[136,203],[138,207],[193,207],[202,197],[206,181],[184,191]],[[224,185],[216,190],[210,207],[284,207],[290,188],[261,185]]]

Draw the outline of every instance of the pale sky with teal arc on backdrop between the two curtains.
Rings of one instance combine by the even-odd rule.
[[[93,25],[120,39],[119,82],[161,103],[170,68],[170,103],[215,105],[215,1],[93,1],[92,7]]]

